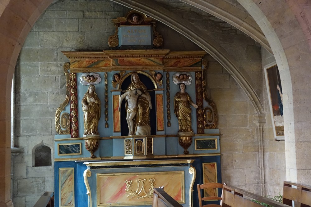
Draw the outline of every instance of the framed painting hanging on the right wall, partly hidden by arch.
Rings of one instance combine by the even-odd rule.
[[[266,70],[268,99],[271,106],[271,118],[276,141],[284,140],[283,92],[277,65]]]

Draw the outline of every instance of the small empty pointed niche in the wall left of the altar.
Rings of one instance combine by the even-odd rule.
[[[35,149],[35,167],[51,166],[51,149],[48,146],[40,145]]]

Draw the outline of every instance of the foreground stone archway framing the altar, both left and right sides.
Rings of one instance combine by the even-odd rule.
[[[278,2],[277,7],[274,8],[276,3],[270,3],[271,5],[267,6],[260,1],[237,1],[253,16],[266,35],[279,65],[282,81],[288,83],[283,88],[286,103],[284,113],[286,115],[287,178],[291,181],[311,183],[311,175],[308,174],[311,168],[311,160],[307,159],[311,148],[308,130],[311,118],[308,113],[305,113],[308,111],[311,102],[309,100],[311,97],[310,86],[307,84],[310,74],[308,63],[311,57],[310,32],[308,30],[310,25],[305,20],[308,16],[304,15],[307,14],[307,11],[311,11],[310,3],[298,5],[297,2],[289,0],[286,3]],[[52,2],[52,0],[22,2],[7,0],[0,4],[0,25],[2,28],[0,32],[2,46],[0,55],[2,65],[0,72],[0,79],[2,80],[2,90],[0,90],[2,97],[0,101],[2,106],[0,113],[0,133],[2,135],[0,144],[2,155],[0,160],[0,207],[13,206],[10,200],[10,94],[16,60],[33,24]],[[273,14],[272,9],[274,9]],[[288,22],[289,20],[292,20],[292,25],[285,24],[285,21]],[[295,29],[291,29],[293,25]],[[299,81],[299,78],[302,81]]]

